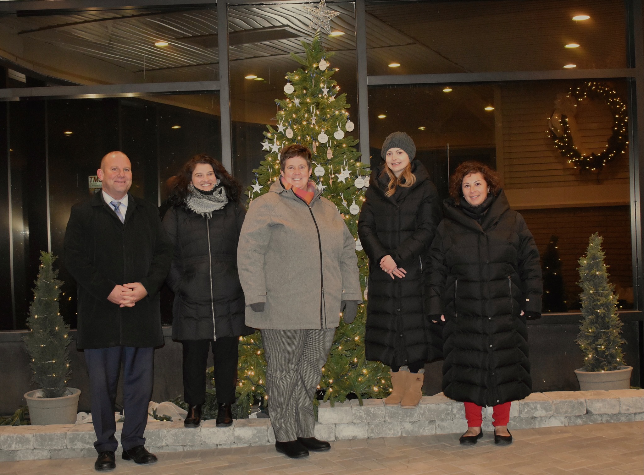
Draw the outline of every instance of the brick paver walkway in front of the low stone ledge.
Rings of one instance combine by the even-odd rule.
[[[514,431],[515,443],[474,447],[457,434],[332,442],[330,452],[290,460],[271,445],[158,454],[154,465],[117,459],[113,474],[644,474],[644,422],[545,427]],[[96,473],[93,459],[0,464],[12,475]]]

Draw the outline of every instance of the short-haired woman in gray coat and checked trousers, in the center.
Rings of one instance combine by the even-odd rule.
[[[291,458],[327,451],[314,437],[313,398],[341,312],[362,302],[355,240],[308,177],[311,152],[289,145],[281,176],[252,201],[238,248],[246,324],[259,328],[275,447]]]

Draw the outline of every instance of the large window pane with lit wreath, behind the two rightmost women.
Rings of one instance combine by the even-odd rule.
[[[544,299],[544,311],[580,308],[577,261],[595,231],[604,238],[620,306],[632,308],[626,98],[625,80],[372,87],[372,163],[381,161],[386,135],[406,131],[443,198],[459,163],[488,163],[499,172],[511,207],[526,219],[542,261],[549,252],[561,265],[564,292],[562,285],[549,284],[558,277],[544,278],[545,291],[553,293]],[[562,115],[567,131],[558,128]],[[574,155],[574,145],[583,154],[577,167],[554,138],[568,140],[565,153]],[[605,157],[612,151],[605,166],[592,165],[592,153]]]

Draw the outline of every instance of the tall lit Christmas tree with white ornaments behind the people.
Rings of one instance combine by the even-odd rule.
[[[310,7],[309,7],[310,8]],[[333,201],[341,212],[350,232],[356,238],[356,253],[360,282],[366,291],[368,261],[357,240],[357,220],[365,201],[368,187],[368,165],[359,162],[360,153],[351,135],[354,124],[349,119],[346,95],[339,94],[339,86],[332,76],[337,71],[331,67],[333,53],[324,50],[319,36],[313,41],[302,42],[305,57],[291,53],[301,68],[286,75],[285,98],[276,100],[277,126],[267,126],[265,140],[261,142],[265,160],[254,170],[255,180],[249,187],[249,201],[268,192],[270,185],[279,178],[279,150],[289,144],[303,144],[313,153],[312,180],[322,196]],[[317,250],[311,250],[316,261]],[[366,298],[366,292],[365,292]],[[365,360],[366,303],[358,308],[355,321],[346,325],[341,321],[327,364],[322,369],[320,394],[323,400],[342,402],[347,396],[381,398],[388,395],[390,378],[388,367],[379,362]],[[248,413],[250,405],[261,400],[269,405],[266,393],[266,363],[259,332],[240,338],[239,382],[237,387],[238,416]]]

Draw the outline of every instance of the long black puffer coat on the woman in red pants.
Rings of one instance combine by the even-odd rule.
[[[431,310],[444,314],[446,396],[497,405],[531,393],[526,317],[541,312],[541,266],[503,191],[479,225],[453,198],[431,245]]]

